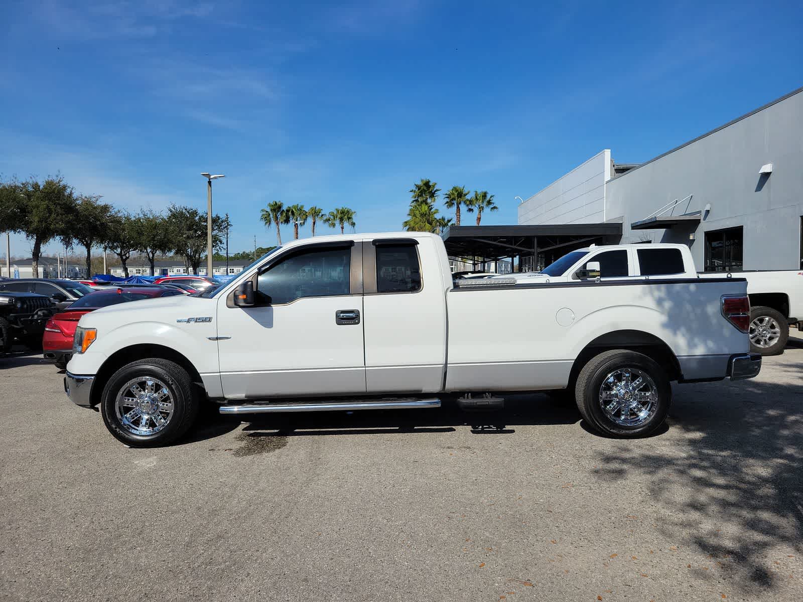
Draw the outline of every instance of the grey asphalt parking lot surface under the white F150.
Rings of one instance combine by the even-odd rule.
[[[0,358],[0,599],[800,600],[801,369],[797,337],[755,380],[676,384],[638,441],[536,395],[207,413],[129,449],[51,365]]]

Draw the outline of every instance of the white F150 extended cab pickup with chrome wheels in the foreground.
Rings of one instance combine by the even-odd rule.
[[[570,388],[593,429],[650,433],[671,381],[751,378],[744,279],[455,286],[433,234],[280,246],[214,291],[81,318],[64,379],[133,446],[224,414],[462,407]],[[493,396],[493,397],[491,397]]]

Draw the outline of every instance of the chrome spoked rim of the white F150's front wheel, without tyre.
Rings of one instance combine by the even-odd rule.
[[[115,411],[120,425],[129,433],[153,435],[164,429],[173,417],[173,393],[153,376],[138,376],[120,388]]]

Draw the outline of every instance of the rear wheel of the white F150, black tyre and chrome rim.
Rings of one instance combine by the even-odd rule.
[[[644,437],[666,420],[672,386],[666,371],[650,357],[613,349],[585,364],[577,376],[575,397],[582,417],[598,432]]]

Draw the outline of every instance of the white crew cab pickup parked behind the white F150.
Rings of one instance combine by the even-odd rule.
[[[750,298],[750,346],[763,356],[784,352],[789,325],[803,323],[803,270],[697,272],[686,245],[628,244],[574,250],[540,272],[494,276],[518,283],[567,283],[655,278],[744,278]]]

